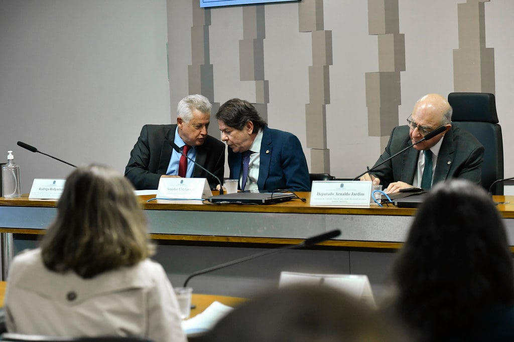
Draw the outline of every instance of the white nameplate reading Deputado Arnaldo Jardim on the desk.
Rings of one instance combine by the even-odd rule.
[[[371,182],[359,180],[314,180],[311,206],[369,207]]]

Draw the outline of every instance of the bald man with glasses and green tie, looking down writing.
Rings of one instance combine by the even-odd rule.
[[[414,145],[360,180],[382,184],[386,193],[412,187],[430,189],[437,182],[457,177],[480,184],[484,147],[467,131],[452,128],[451,114],[452,108],[443,96],[428,94],[421,97],[407,118],[408,125],[393,129],[386,150],[375,165],[440,126],[444,126],[445,131]]]

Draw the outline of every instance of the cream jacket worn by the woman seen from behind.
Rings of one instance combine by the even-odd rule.
[[[46,269],[40,249],[26,251],[10,267],[4,308],[9,332],[187,341],[170,281],[150,259],[83,279]]]

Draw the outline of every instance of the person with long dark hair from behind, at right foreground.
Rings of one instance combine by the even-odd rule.
[[[514,341],[512,254],[481,187],[463,179],[434,187],[392,276],[392,307],[421,342]]]

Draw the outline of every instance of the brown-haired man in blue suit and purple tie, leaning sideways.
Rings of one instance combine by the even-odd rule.
[[[310,191],[307,161],[295,135],[268,128],[255,107],[238,98],[219,107],[216,118],[230,147],[230,178],[240,179],[239,189]]]

